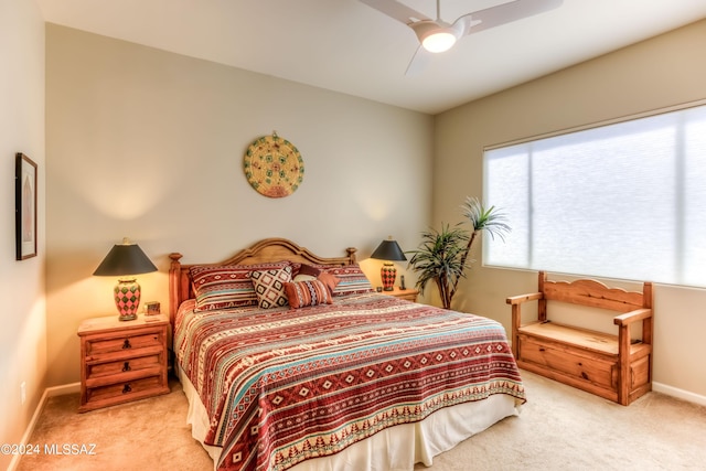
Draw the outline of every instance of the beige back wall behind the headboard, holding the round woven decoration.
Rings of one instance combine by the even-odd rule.
[[[115,312],[115,280],[92,272],[122,236],[159,266],[139,281],[167,308],[170,251],[217,261],[279,236],[365,259],[387,235],[416,246],[429,223],[430,116],[63,26],[46,36],[51,385],[79,378],[78,323]],[[274,130],[304,160],[286,199],[243,172]],[[379,283],[381,265],[363,266]]]

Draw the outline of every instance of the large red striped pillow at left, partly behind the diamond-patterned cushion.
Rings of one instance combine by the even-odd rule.
[[[288,261],[259,265],[199,265],[190,268],[196,297],[194,312],[257,306],[257,295],[248,277],[253,270],[278,269]]]

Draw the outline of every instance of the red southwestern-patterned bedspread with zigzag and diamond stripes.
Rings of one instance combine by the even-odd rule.
[[[501,324],[377,293],[199,313],[186,301],[174,351],[223,470],[285,470],[442,407],[525,400]]]

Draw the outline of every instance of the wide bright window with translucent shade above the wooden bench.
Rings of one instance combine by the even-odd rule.
[[[706,106],[485,150],[490,266],[706,287]]]

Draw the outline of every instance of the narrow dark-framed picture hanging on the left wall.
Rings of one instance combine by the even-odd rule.
[[[36,256],[36,163],[22,152],[15,156],[14,225],[17,259]]]

